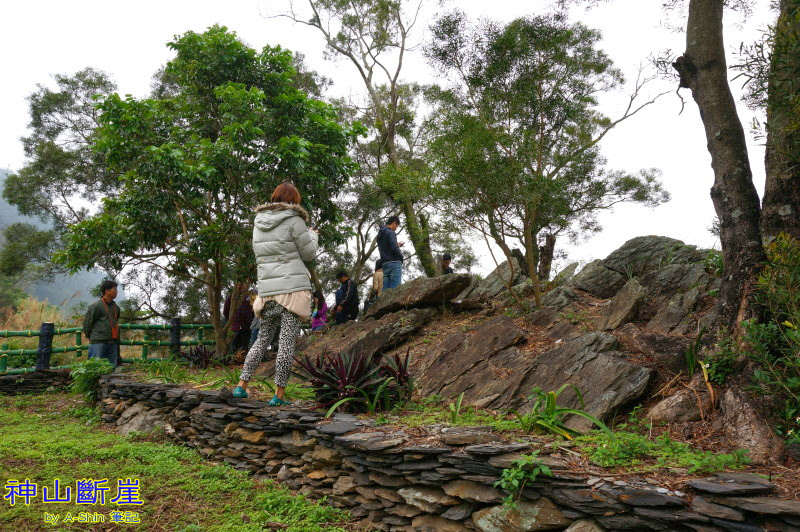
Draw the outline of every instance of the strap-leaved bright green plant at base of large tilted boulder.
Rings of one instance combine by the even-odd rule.
[[[533,393],[528,396],[528,399],[535,399],[530,412],[527,414],[520,414],[516,410],[511,411],[517,419],[522,431],[526,434],[531,434],[533,432],[549,432],[567,439],[572,439],[572,437],[579,434],[579,432],[570,429],[564,423],[568,416],[580,416],[608,432],[608,427],[591,414],[577,408],[566,408],[558,405],[558,396],[568,388],[571,388],[575,392],[578,402],[581,408],[583,408],[583,396],[580,390],[573,384],[567,383],[562,385],[557,391],[549,392],[545,392],[538,387],[533,388]]]

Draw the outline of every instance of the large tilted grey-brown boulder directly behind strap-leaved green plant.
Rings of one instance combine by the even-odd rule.
[[[529,392],[538,387],[544,391],[558,390],[564,383],[575,385],[585,401],[583,410],[604,420],[620,407],[641,397],[655,373],[652,369],[632,364],[618,353],[617,339],[602,332],[585,334],[566,344],[545,351],[536,357],[527,370],[521,390]],[[575,392],[568,388],[558,398],[561,406],[580,407]],[[530,401],[521,405],[523,410]],[[592,423],[572,416],[567,426],[588,430]]]

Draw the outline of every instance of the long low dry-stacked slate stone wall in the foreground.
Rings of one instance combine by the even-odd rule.
[[[365,530],[800,530],[800,503],[770,496],[774,487],[755,475],[720,474],[672,491],[646,480],[572,474],[545,455],[554,476],[526,487],[512,510],[493,484],[531,449],[498,441],[485,427],[431,428],[436,443],[425,444],[412,429],[348,415],[323,419],[313,410],[118,375],[101,382],[104,422],[155,419],[170,438],[211,459],[327,497]]]

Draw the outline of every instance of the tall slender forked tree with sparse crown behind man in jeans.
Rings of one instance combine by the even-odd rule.
[[[410,35],[422,8],[422,1],[403,0],[308,0],[310,13],[299,14],[290,0],[286,17],[315,28],[325,39],[333,56],[346,58],[357,70],[367,89],[374,126],[378,132],[377,166],[388,167],[388,175],[413,181],[414,168],[403,161],[399,129],[404,120],[400,73],[411,48]],[[381,81],[379,81],[382,80]],[[430,217],[412,198],[385,189],[405,217],[405,226],[424,272],[435,275],[431,247]]]

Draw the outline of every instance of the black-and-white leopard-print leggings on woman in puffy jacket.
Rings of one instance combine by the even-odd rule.
[[[289,382],[289,370],[292,369],[294,345],[300,334],[300,318],[275,301],[267,301],[259,320],[261,320],[261,325],[258,329],[258,338],[247,353],[242,375],[239,378],[243,381],[249,381],[252,378],[253,371],[261,363],[264,353],[272,344],[275,332],[280,326],[278,356],[275,359],[275,386],[285,388],[286,383]]]

